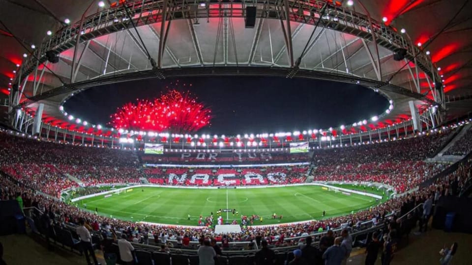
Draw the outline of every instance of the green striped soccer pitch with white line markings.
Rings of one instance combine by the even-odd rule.
[[[371,193],[377,193],[368,191]],[[226,222],[241,215],[257,214],[264,221],[254,225],[289,223],[324,218],[360,211],[377,204],[368,196],[324,190],[321,186],[303,185],[265,188],[173,188],[135,187],[105,198],[99,195],[73,203],[88,211],[98,209],[98,214],[130,221],[146,221],[173,225],[198,225],[200,215],[206,217],[219,209],[236,209],[239,215],[223,212]],[[283,215],[283,219],[272,219],[272,214]],[[187,214],[190,214],[188,220]],[[216,220],[216,218],[215,218]]]

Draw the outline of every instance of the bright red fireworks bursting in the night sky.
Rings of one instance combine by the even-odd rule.
[[[210,124],[211,110],[190,92],[170,90],[153,101],[127,103],[111,115],[115,129],[194,132]]]

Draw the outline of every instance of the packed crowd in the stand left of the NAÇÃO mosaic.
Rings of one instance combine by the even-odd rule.
[[[0,169],[18,181],[59,197],[78,184],[136,183],[142,177],[138,159],[130,151],[59,144],[32,137],[0,133]]]

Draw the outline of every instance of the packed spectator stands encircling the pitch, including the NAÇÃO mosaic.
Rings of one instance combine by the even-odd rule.
[[[170,254],[166,254],[165,257],[172,257],[175,261],[173,264],[179,264],[177,259],[180,253],[194,250],[198,246],[196,242],[202,238],[215,238],[218,242],[223,242],[221,246],[224,251],[241,249],[254,251],[258,248],[260,240],[265,239],[270,247],[280,248],[280,253],[284,253],[283,258],[279,257],[282,260],[291,259],[290,255],[285,256],[287,249],[292,250],[303,245],[307,236],[318,242],[327,229],[334,230],[335,236],[341,235],[340,229],[348,229],[353,235],[362,233],[366,229],[371,232],[378,230],[381,234],[388,235],[383,240],[400,245],[418,222],[420,228],[427,226],[422,217],[422,204],[431,200],[433,198],[431,196],[434,195],[436,199],[442,196],[457,196],[470,185],[470,158],[460,162],[457,168],[449,172],[445,178],[438,179],[433,177],[444,169],[447,170],[449,164],[425,162],[429,156],[434,155],[453,140],[456,142],[451,148],[456,149],[456,146],[460,146],[462,154],[469,154],[472,147],[465,143],[470,141],[470,132],[466,132],[458,139],[455,138],[457,131],[465,128],[464,124],[461,123],[460,126],[454,124],[443,127],[441,130],[412,134],[387,142],[354,144],[340,148],[315,148],[313,153],[310,153],[311,158],[298,154],[294,156],[296,159],[292,160],[293,155],[270,154],[270,152],[268,152],[270,155],[264,155],[266,158],[269,156],[277,158],[277,162],[287,162],[289,165],[274,166],[267,159],[267,161],[259,161],[255,166],[249,159],[236,159],[241,163],[239,167],[237,165],[230,169],[216,167],[211,170],[199,168],[198,165],[191,166],[195,164],[195,161],[182,161],[181,159],[188,159],[183,153],[167,157],[164,155],[168,161],[175,158],[177,163],[174,165],[165,167],[154,165],[154,167],[143,169],[140,160],[143,161],[145,155],[139,150],[75,146],[70,143],[56,143],[2,130],[0,132],[0,197],[2,200],[18,200],[21,197],[22,207],[29,209],[25,212],[28,218],[31,218],[30,228],[46,235],[48,243],[51,237],[64,244],[62,241],[64,237],[59,235],[66,233],[69,235],[66,236],[67,240],[72,240],[70,246],[74,247],[71,237],[75,237],[73,236],[75,227],[81,220],[85,220],[87,227],[94,235],[95,242],[98,243],[101,234],[107,234],[108,236],[125,235],[128,240],[138,243],[136,247],[142,249],[147,249],[146,245],[150,247],[166,244],[171,250],[169,250]],[[235,162],[235,157],[239,156],[231,155],[230,157]],[[290,165],[291,163],[301,164],[294,166]],[[244,167],[250,164],[249,168]],[[246,177],[248,172],[257,177],[248,179]],[[274,172],[279,177],[283,175],[284,178],[270,177],[270,174]],[[192,175],[197,174],[199,178],[192,178]],[[227,178],[229,176],[231,178]],[[370,209],[344,216],[280,226],[242,226],[241,233],[228,235],[215,234],[211,225],[203,228],[152,225],[108,218],[82,211],[59,200],[62,190],[79,185],[85,187],[82,194],[88,194],[97,192],[97,188],[94,187],[96,184],[128,185],[141,183],[143,179],[163,185],[198,186],[224,185],[224,181],[228,180],[231,180],[233,185],[280,185],[303,183],[308,181],[307,177],[311,177],[313,181],[322,182],[384,183],[391,185],[398,195]],[[418,189],[421,183],[430,180],[432,182],[429,185]],[[409,192],[404,193],[405,191]],[[408,218],[406,213],[409,213]],[[44,224],[39,221],[41,218],[50,219],[53,226],[44,227]],[[384,223],[389,225],[384,227]],[[382,227],[378,227],[379,225]],[[372,233],[367,234],[369,235]],[[364,239],[367,239],[365,236]],[[353,243],[358,245],[355,238]],[[68,243],[65,244],[68,245]],[[246,254],[250,253],[246,252]],[[251,257],[253,256],[245,257],[244,261],[246,262],[246,259]],[[321,261],[321,256],[316,258]]]

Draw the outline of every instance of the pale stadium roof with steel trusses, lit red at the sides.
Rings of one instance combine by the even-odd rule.
[[[434,81],[441,82],[438,79],[444,80],[445,102],[454,102],[445,105],[449,115],[471,110],[472,16],[467,11],[472,10],[471,1],[354,0],[353,6],[347,0],[330,1],[318,20],[323,1],[289,0],[290,27],[284,19],[285,2],[258,2],[255,27],[245,28],[241,11],[254,2],[171,0],[165,4],[172,22],[161,27],[162,0],[105,1],[103,8],[98,0],[5,0],[0,9],[0,101],[17,84],[24,106],[35,110],[37,103],[45,104],[44,122],[78,129],[83,126],[68,121],[59,106],[74,92],[97,84],[156,76],[261,75],[334,79],[379,88],[394,108],[373,128],[409,118],[409,101],[421,108],[443,103],[431,93]],[[317,11],[307,11],[310,8]],[[87,19],[80,24],[83,15]],[[374,26],[378,51],[366,24],[369,16],[378,25]],[[386,32],[385,26],[396,33]],[[73,28],[81,31],[78,46]],[[162,43],[165,48],[159,56]],[[406,67],[404,60],[393,59],[399,48],[407,48],[406,57],[413,60]],[[34,53],[41,49],[60,52],[59,62],[47,63],[45,53]],[[158,71],[152,70],[149,56]],[[299,57],[300,70],[294,71]]]

